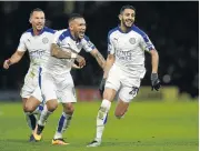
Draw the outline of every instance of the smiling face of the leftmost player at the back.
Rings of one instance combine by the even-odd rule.
[[[42,30],[44,26],[44,13],[42,11],[34,11],[30,19],[32,28],[37,30]]]

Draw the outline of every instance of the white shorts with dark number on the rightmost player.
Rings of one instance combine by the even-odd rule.
[[[134,70],[130,73],[124,72],[116,64],[109,71],[106,88],[119,91],[119,99],[124,102],[130,102],[137,94],[140,88],[141,79],[146,74],[146,69]]]

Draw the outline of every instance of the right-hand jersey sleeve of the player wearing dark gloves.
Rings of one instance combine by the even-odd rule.
[[[154,49],[153,43],[151,42],[151,40],[149,39],[149,37],[146,33],[142,34],[140,44],[141,44],[142,49],[146,51],[151,51]]]

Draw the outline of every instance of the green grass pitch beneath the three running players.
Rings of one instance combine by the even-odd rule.
[[[61,107],[49,118],[43,140],[29,143],[30,130],[20,103],[0,103],[0,151],[198,151],[198,101],[133,102],[124,119],[109,113],[99,148],[86,148],[94,137],[100,102],[79,102],[64,138],[70,145],[51,145]]]

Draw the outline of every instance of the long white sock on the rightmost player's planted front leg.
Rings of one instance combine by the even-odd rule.
[[[97,115],[96,141],[101,141],[110,107],[111,107],[111,102],[109,100],[106,100],[106,99],[102,100],[101,107],[100,107],[100,109],[98,111],[98,115]]]

